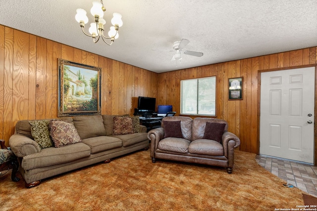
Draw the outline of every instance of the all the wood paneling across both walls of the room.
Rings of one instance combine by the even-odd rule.
[[[138,96],[156,97],[180,113],[180,80],[216,76],[216,115],[241,139],[240,150],[259,150],[259,77],[262,71],[315,66],[317,47],[167,73],[153,73],[0,25],[0,139],[18,120],[57,117],[57,58],[102,68],[102,114],[130,114]],[[243,77],[243,99],[228,100],[228,79]],[[317,104],[317,103],[316,103]]]

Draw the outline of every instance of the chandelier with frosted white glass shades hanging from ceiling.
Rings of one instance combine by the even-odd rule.
[[[93,6],[90,9],[91,14],[95,17],[95,22],[90,24],[89,28],[89,34],[87,34],[84,31],[85,24],[88,23],[88,17],[87,12],[84,9],[77,9],[77,14],[75,15],[76,21],[80,24],[80,27],[85,35],[88,37],[92,37],[94,39],[94,43],[98,42],[100,38],[104,42],[106,42],[107,39],[110,39],[111,43],[106,42],[106,44],[111,45],[112,42],[114,42],[114,39],[117,39],[119,37],[118,30],[119,27],[122,26],[122,20],[121,15],[119,13],[113,13],[113,18],[111,19],[111,23],[113,26],[110,27],[110,31],[108,32],[108,37],[104,35],[104,26],[106,24],[104,17],[104,12],[106,11],[106,8],[104,6],[103,0],[100,2],[94,1]]]

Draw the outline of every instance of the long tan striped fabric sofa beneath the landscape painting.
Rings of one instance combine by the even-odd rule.
[[[42,149],[34,141],[28,120],[18,121],[9,145],[18,157],[19,171],[26,187],[40,184],[40,180],[73,169],[82,168],[141,149],[148,149],[147,128],[139,126],[133,134],[112,135],[112,115],[76,116],[61,118],[72,123],[81,142],[59,148]]]

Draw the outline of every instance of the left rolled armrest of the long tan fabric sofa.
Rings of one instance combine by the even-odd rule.
[[[34,153],[41,152],[40,145],[31,138],[24,135],[11,135],[9,145],[17,157],[24,157]]]

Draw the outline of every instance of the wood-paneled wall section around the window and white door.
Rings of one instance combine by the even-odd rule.
[[[240,150],[259,153],[260,73],[316,66],[316,51],[317,47],[310,47],[161,73],[158,103],[173,105],[180,114],[180,80],[216,76],[216,118],[226,120],[228,130],[238,135]],[[228,100],[228,79],[235,77],[243,77],[242,100]]]

